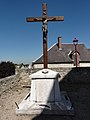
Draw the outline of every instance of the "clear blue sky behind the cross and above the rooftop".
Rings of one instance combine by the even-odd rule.
[[[0,62],[32,63],[43,53],[42,22],[26,22],[42,17],[42,3],[48,16],[64,16],[64,21],[48,22],[48,48],[57,43],[79,43],[90,48],[90,0],[0,0]]]

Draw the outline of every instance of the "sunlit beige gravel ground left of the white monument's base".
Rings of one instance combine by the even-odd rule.
[[[0,96],[0,120],[30,120],[15,114],[15,102],[20,103],[28,91],[28,88],[14,87]]]

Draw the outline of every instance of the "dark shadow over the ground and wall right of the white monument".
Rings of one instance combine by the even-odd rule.
[[[49,115],[43,114],[48,113],[49,106],[46,109],[43,109],[40,115],[35,116],[32,120],[89,120],[90,119],[90,67],[78,67],[72,68],[71,71],[66,74],[63,79],[59,82],[60,90],[66,91],[72,105],[74,107],[74,116],[70,115]],[[48,100],[50,100],[53,87],[51,93],[49,95]],[[47,92],[47,90],[46,90]],[[83,102],[83,103],[82,103]],[[88,107],[87,107],[88,105]],[[57,112],[57,111],[56,111]]]

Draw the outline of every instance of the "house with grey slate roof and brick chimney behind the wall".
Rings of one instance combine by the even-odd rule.
[[[75,67],[74,57],[71,53],[75,51],[73,44],[62,44],[62,38],[58,37],[58,43],[48,49],[48,68]],[[77,45],[79,67],[90,67],[90,49],[84,44]],[[34,68],[43,68],[43,55],[33,61]]]

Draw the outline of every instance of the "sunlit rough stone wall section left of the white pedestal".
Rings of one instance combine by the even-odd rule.
[[[28,69],[17,69],[16,75],[0,79],[0,95],[13,87],[22,88],[24,85],[30,85]]]

